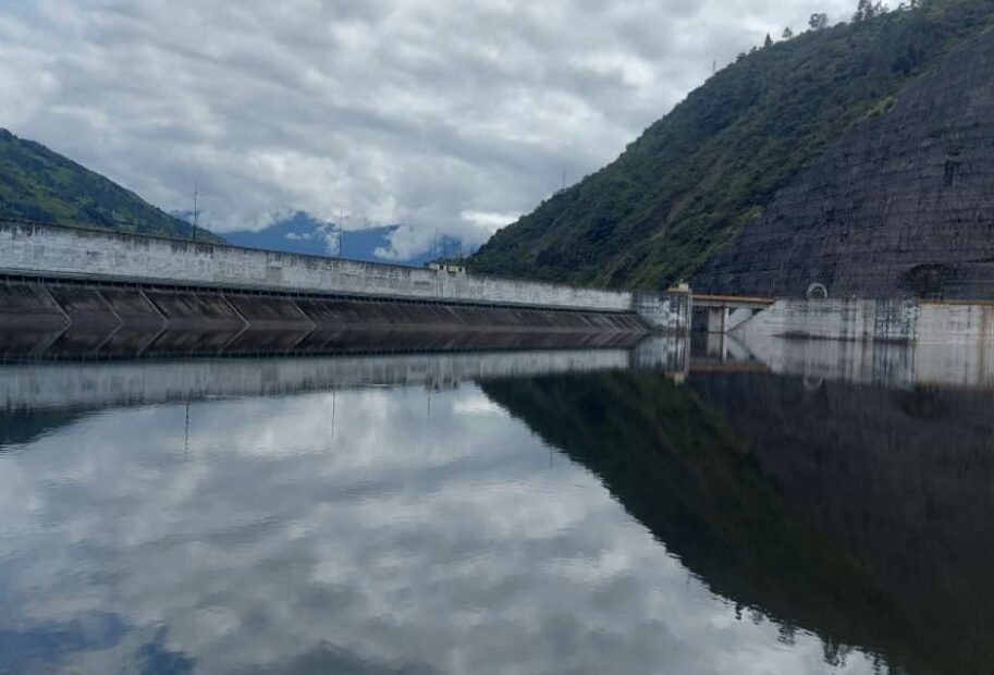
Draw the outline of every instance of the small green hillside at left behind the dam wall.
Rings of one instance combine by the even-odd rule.
[[[0,218],[187,238],[189,224],[133,192],[0,128]],[[198,238],[220,242],[199,231]]]

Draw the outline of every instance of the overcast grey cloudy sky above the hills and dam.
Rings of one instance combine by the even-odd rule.
[[[0,126],[218,231],[474,242],[766,33],[855,0],[0,0]]]

